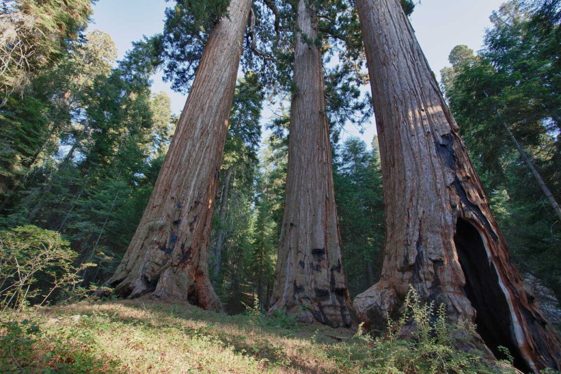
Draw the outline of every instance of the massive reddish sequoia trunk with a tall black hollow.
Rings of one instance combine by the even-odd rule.
[[[379,283],[358,295],[384,326],[410,284],[478,325],[475,344],[511,350],[522,370],[559,368],[561,345],[511,263],[507,244],[398,0],[356,0],[382,161],[386,242]],[[381,325],[380,325],[381,324]],[[481,338],[481,339],[479,339]],[[483,343],[484,342],[484,343]]]

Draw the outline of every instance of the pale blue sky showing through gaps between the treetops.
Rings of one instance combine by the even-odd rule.
[[[421,0],[411,16],[417,39],[425,52],[430,66],[438,77],[440,69],[448,65],[448,54],[458,44],[478,50],[489,16],[504,0]],[[121,58],[131,48],[132,41],[142,35],[157,34],[163,29],[165,7],[172,2],[164,0],[98,0],[94,6],[94,24],[90,29],[99,29],[111,35]],[[172,110],[181,112],[186,96],[174,93],[162,82],[161,75],[154,77],[153,91],[165,91],[172,99]],[[270,116],[264,111],[263,122]],[[360,135],[355,128],[346,128],[344,137],[357,135],[367,144],[375,134],[371,124]]]

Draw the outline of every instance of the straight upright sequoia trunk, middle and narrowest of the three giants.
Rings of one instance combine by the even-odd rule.
[[[303,322],[350,326],[351,302],[341,264],[329,123],[315,10],[298,2],[286,204],[272,310]]]

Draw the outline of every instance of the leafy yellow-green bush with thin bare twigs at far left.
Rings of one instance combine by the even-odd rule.
[[[91,266],[74,266],[75,257],[58,232],[32,225],[0,232],[0,306],[21,310],[44,304],[56,290],[75,289],[77,273]]]

